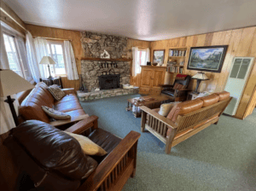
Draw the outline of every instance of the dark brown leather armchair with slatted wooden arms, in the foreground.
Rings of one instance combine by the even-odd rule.
[[[0,190],[121,190],[135,176],[140,134],[121,139],[98,128],[97,119],[90,116],[66,131],[89,133],[108,152],[103,157],[84,155],[73,137],[37,120],[0,135]]]

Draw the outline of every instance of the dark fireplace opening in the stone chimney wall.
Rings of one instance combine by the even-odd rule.
[[[101,90],[109,90],[109,89],[117,89],[119,88],[119,74],[109,74],[99,76],[100,80],[100,89]]]

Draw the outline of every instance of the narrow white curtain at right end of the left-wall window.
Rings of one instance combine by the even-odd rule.
[[[33,43],[33,38],[30,32],[26,32],[26,55],[30,71],[32,72],[32,78],[36,83],[38,83],[39,78],[41,78],[41,74],[38,67],[35,45]]]

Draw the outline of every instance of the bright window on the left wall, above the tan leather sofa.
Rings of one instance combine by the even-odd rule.
[[[9,68],[22,78],[30,80],[32,74],[26,59],[26,47],[23,38],[16,38],[13,35],[3,32],[4,46],[7,52]]]

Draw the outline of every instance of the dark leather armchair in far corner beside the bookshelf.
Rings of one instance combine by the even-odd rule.
[[[191,77],[189,75],[177,74],[172,85],[161,85],[161,94],[169,96],[172,101],[185,101],[187,98],[187,92],[189,91],[187,87],[189,86],[190,79]],[[182,84],[185,88],[174,88],[177,84]]]

